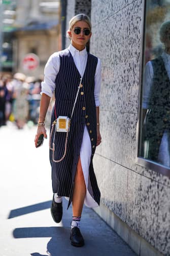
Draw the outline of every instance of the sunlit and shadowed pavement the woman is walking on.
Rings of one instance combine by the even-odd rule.
[[[129,246],[92,210],[84,207],[81,232],[85,246],[70,244],[72,207],[56,224],[52,200],[48,140],[35,148],[36,127],[0,127],[1,256],[133,256]]]

